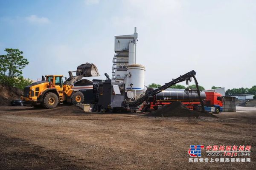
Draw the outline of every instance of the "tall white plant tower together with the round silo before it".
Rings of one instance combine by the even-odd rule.
[[[112,79],[122,80],[129,98],[137,99],[144,93],[145,67],[136,63],[138,33],[115,36],[115,56],[113,58]]]

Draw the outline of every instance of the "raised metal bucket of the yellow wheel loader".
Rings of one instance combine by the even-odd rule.
[[[84,77],[99,76],[99,71],[96,65],[92,63],[85,63],[77,67],[76,75],[83,75]]]

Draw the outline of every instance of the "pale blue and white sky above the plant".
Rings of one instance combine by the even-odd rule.
[[[256,85],[255,0],[0,0],[0,54],[23,51],[30,79],[85,62],[105,79],[114,36],[135,26],[145,85],[191,70],[206,89]]]

